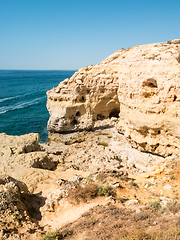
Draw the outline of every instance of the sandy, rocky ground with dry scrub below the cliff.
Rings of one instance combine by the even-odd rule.
[[[34,219],[34,230],[29,226],[24,231],[22,219],[16,219],[16,235],[7,232],[7,239],[180,239],[178,156],[138,152],[112,130],[90,133],[81,143],[52,142],[43,148],[63,161],[37,183],[33,194],[21,194],[27,214]],[[120,169],[112,165],[113,156],[119,157],[113,161],[120,162]],[[77,176],[77,185],[66,189],[70,178]]]

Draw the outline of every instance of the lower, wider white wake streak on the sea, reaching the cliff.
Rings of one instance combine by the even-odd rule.
[[[7,106],[7,107],[1,107],[0,108],[0,114],[6,113],[6,112],[9,112],[9,111],[18,110],[18,109],[21,109],[21,108],[26,108],[26,107],[29,107],[29,106],[32,106],[32,105],[36,105],[36,104],[40,103],[42,101],[42,99],[45,98],[45,97],[46,96],[39,97],[39,98],[36,98],[32,101],[24,102],[24,103],[21,103],[21,104],[11,105],[11,106]]]

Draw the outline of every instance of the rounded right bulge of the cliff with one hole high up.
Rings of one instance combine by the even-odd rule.
[[[119,58],[118,129],[141,151],[180,151],[180,40],[132,47]]]

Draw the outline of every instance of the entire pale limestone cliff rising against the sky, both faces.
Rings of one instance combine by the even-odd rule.
[[[179,153],[180,40],[116,51],[47,96],[50,132],[108,127],[118,117],[118,131],[141,151]]]

